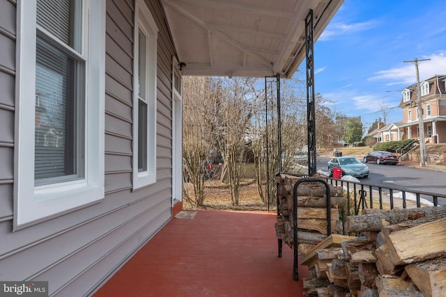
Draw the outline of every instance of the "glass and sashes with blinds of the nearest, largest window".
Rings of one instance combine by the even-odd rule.
[[[36,185],[84,177],[81,2],[37,1]]]

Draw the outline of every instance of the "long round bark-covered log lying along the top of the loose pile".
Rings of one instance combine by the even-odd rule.
[[[346,218],[346,232],[379,232],[383,226],[395,225],[406,220],[417,220],[428,216],[445,214],[446,205],[439,207],[419,207],[414,209],[392,209],[377,214],[348,216]]]

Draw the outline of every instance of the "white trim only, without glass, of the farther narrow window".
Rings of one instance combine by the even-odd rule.
[[[156,182],[156,106],[157,106],[157,33],[158,29],[151,12],[142,0],[137,0],[134,10],[134,59],[133,59],[133,189],[141,188]],[[147,94],[147,170],[138,172],[138,52],[139,29],[143,29],[148,40],[148,56],[146,57],[146,94]]]

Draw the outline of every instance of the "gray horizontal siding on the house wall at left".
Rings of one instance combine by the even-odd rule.
[[[15,5],[0,0],[0,280],[49,281],[50,296],[92,294],[171,219],[171,57],[160,3],[157,182],[132,191],[133,1],[107,0],[105,199],[12,232],[15,139]]]

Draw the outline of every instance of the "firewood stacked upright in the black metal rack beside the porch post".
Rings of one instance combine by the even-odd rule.
[[[293,189],[300,177],[281,174],[277,177],[279,215],[276,234],[291,248],[293,247]],[[327,237],[327,197],[325,185],[321,182],[302,182],[298,186],[298,243],[316,245]],[[330,185],[331,230],[339,225],[339,209],[344,209],[346,198],[344,190]]]

